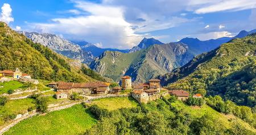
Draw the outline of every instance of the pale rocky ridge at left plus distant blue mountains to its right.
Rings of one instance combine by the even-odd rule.
[[[119,50],[106,48],[102,49],[93,45],[92,43],[82,41],[68,41],[64,38],[57,36],[56,34],[49,33],[37,33],[37,32],[19,32],[30,38],[35,43],[41,43],[44,46],[49,47],[56,53],[67,56],[71,59],[80,60],[82,63],[90,63],[94,58],[104,53],[106,50],[120,51],[122,53],[128,53],[129,50]]]

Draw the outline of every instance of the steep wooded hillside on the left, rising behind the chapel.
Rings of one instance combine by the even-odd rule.
[[[35,79],[55,81],[92,81],[47,47],[16,33],[7,24],[0,27],[0,70],[20,68]]]

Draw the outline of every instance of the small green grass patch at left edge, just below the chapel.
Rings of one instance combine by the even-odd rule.
[[[8,90],[15,90],[23,88],[24,84],[19,81],[7,81],[7,82],[0,82],[0,86],[3,86],[3,88],[0,88],[0,94],[7,93]]]

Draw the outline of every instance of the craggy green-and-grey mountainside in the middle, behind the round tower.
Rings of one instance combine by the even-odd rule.
[[[193,58],[193,54],[183,43],[153,45],[134,53],[106,51],[90,68],[114,81],[123,75],[132,77],[132,81],[143,82],[158,75],[170,72]]]

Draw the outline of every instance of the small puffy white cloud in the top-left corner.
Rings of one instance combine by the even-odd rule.
[[[14,21],[14,18],[11,16],[11,6],[8,3],[4,3],[3,6],[1,7],[2,12],[1,12],[1,21],[4,21],[5,23],[9,24],[11,21]]]

